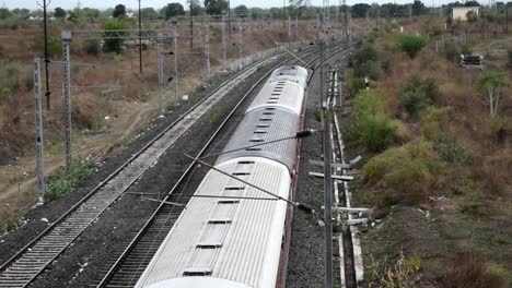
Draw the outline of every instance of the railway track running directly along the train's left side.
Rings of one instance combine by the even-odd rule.
[[[334,48],[333,51],[335,51],[336,49],[337,48]],[[309,55],[310,52],[304,53],[304,56]],[[307,64],[311,64],[317,59],[318,57],[314,56],[314,58],[310,60]],[[288,60],[283,61],[283,63],[287,61]],[[241,98],[241,100],[231,110],[229,116],[220,124],[220,127],[213,133],[211,139],[207,142],[207,144],[196,157],[201,157],[205,154],[205,152],[209,148],[211,143],[214,141],[214,139],[218,136],[218,134],[221,132],[221,130],[228,123],[228,121],[232,118],[232,116],[235,113],[238,107],[259,85],[259,83],[261,83],[270,73],[271,71],[264,75],[259,81],[257,81],[256,84],[254,84],[252,88]],[[121,288],[133,287],[137,284],[143,271],[149,265],[151,259],[160,248],[160,244],[163,242],[163,240],[170,232],[175,220],[177,219],[177,217],[179,217],[179,214],[183,212],[184,206],[191,199],[191,194],[189,193],[194,193],[195,190],[181,188],[183,187],[184,182],[186,182],[186,180],[188,179],[189,175],[194,169],[194,166],[195,164],[191,163],[187,167],[185,172],[182,175],[179,180],[175,183],[175,185],[164,197],[164,200],[156,208],[154,214],[151,216],[151,218],[148,220],[148,223],[144,225],[144,227],[138,232],[138,235],[131,240],[128,247],[126,247],[123,253],[117,257],[115,263],[112,264],[110,268],[105,273],[103,279],[101,279],[97,284],[97,287]],[[182,192],[179,192],[179,190]],[[188,193],[183,193],[183,191],[186,191]],[[173,205],[168,205],[168,203],[173,203]]]

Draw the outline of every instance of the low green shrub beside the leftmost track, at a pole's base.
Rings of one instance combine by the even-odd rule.
[[[69,171],[63,168],[48,178],[46,183],[47,201],[56,200],[81,185],[89,175],[91,175],[91,168],[86,161],[81,159],[73,160]]]

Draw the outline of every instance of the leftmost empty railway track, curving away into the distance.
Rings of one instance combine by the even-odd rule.
[[[279,56],[256,62],[219,85],[143,146],[0,267],[0,287],[26,287],[123,195],[223,95]]]

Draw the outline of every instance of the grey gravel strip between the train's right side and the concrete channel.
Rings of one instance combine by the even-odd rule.
[[[334,62],[334,59],[328,60]],[[326,72],[325,70],[324,76],[327,75]],[[324,91],[327,91],[327,81]],[[321,107],[318,95],[319,70],[317,70],[310,84],[305,128],[322,129],[321,122],[316,119],[316,111]],[[296,209],[293,213],[287,287],[325,287],[325,229],[318,221],[324,219],[323,209],[321,209],[324,205],[324,181],[322,178],[307,175],[310,171],[323,172],[322,167],[309,163],[309,160],[322,159],[322,133],[315,133],[304,139],[301,148],[296,201],[314,208],[316,214],[306,214]]]

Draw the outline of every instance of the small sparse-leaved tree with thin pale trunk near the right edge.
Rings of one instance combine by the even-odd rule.
[[[498,105],[500,103],[501,89],[509,86],[505,76],[500,72],[487,72],[478,79],[477,86],[485,95],[488,94],[489,98],[484,100],[489,105],[490,117],[498,115]]]

